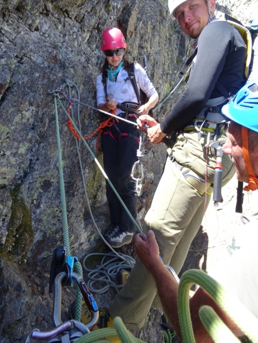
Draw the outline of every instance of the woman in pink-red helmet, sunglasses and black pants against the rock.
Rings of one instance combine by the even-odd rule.
[[[100,110],[115,113],[118,120],[106,127],[102,135],[104,169],[118,194],[124,201],[134,219],[136,219],[136,196],[131,178],[133,163],[138,148],[138,130],[119,118],[136,122],[139,114],[148,114],[158,101],[158,95],[144,69],[134,63],[135,81],[138,95],[140,89],[149,100],[141,105],[140,97],[134,91],[130,76],[132,65],[124,57],[126,40],[117,28],[103,32],[101,50],[105,55],[102,73],[96,81],[97,106]],[[138,114],[138,115],[137,115]],[[106,194],[109,204],[111,227],[105,234],[106,241],[113,248],[129,244],[133,238],[133,223],[128,213],[106,182]]]

